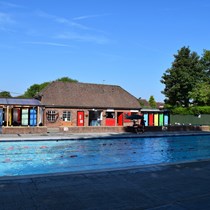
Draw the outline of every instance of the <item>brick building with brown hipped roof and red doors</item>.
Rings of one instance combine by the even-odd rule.
[[[55,81],[36,98],[44,106],[44,125],[59,131],[121,131],[131,123],[126,115],[141,109],[133,95],[116,85]]]

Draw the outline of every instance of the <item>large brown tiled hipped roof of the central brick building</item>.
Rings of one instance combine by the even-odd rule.
[[[138,100],[116,85],[55,81],[38,95],[45,106],[140,109]]]

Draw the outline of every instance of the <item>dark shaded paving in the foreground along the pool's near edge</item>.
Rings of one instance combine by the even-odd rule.
[[[0,209],[210,209],[210,161],[0,179]]]

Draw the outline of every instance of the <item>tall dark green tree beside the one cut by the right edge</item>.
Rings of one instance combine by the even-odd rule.
[[[191,52],[189,47],[182,47],[174,58],[171,68],[162,76],[161,83],[165,84],[162,93],[166,96],[166,104],[188,107],[190,91],[203,81],[203,67],[200,57],[196,52]]]

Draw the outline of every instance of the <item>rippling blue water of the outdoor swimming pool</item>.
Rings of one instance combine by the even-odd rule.
[[[0,142],[0,176],[112,169],[210,158],[210,136]]]

